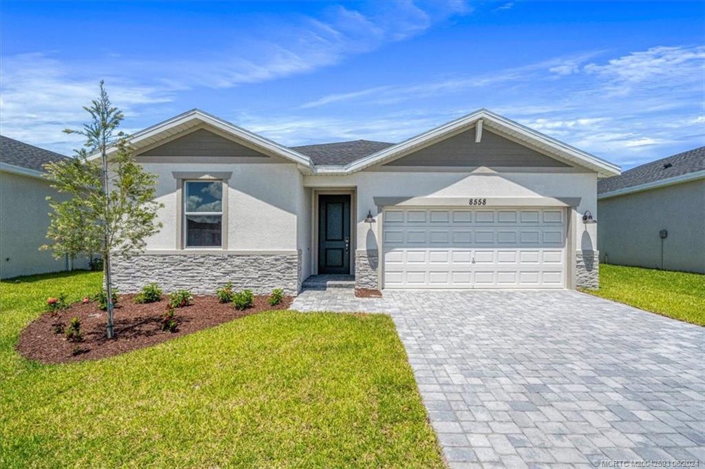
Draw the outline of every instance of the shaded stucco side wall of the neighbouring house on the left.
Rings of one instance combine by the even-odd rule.
[[[56,191],[47,181],[0,171],[0,278],[87,268],[85,258],[68,263],[39,251],[49,242],[49,195]]]

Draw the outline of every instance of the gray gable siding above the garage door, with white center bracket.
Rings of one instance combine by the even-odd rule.
[[[489,166],[566,168],[569,165],[527,146],[501,137],[485,128],[482,141],[475,142],[475,130],[465,130],[419,151],[386,163],[385,166]]]

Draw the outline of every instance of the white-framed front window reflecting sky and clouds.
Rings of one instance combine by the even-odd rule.
[[[186,247],[223,245],[223,181],[184,181]]]

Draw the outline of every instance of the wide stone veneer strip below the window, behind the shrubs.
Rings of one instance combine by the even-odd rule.
[[[157,282],[164,292],[190,289],[195,294],[215,294],[233,282],[235,289],[249,288],[269,294],[281,288],[296,295],[300,287],[300,254],[141,254],[113,261],[113,284],[120,292],[138,292]]]

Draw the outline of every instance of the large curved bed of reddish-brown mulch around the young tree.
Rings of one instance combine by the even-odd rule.
[[[192,304],[176,308],[176,332],[161,330],[161,315],[167,310],[166,297],[156,303],[134,304],[133,294],[120,296],[115,308],[114,339],[107,339],[106,313],[94,302],[73,304],[59,313],[44,313],[20,334],[17,350],[30,360],[41,363],[68,363],[97,360],[106,356],[143,349],[175,337],[227,323],[235,318],[268,311],[286,309],[293,301],[285,296],[281,304],[269,306],[266,296],[255,296],[255,305],[238,311],[230,303],[219,303],[216,296],[194,296]],[[81,342],[68,342],[63,333],[56,333],[54,325],[68,325],[71,318],[81,321]]]

